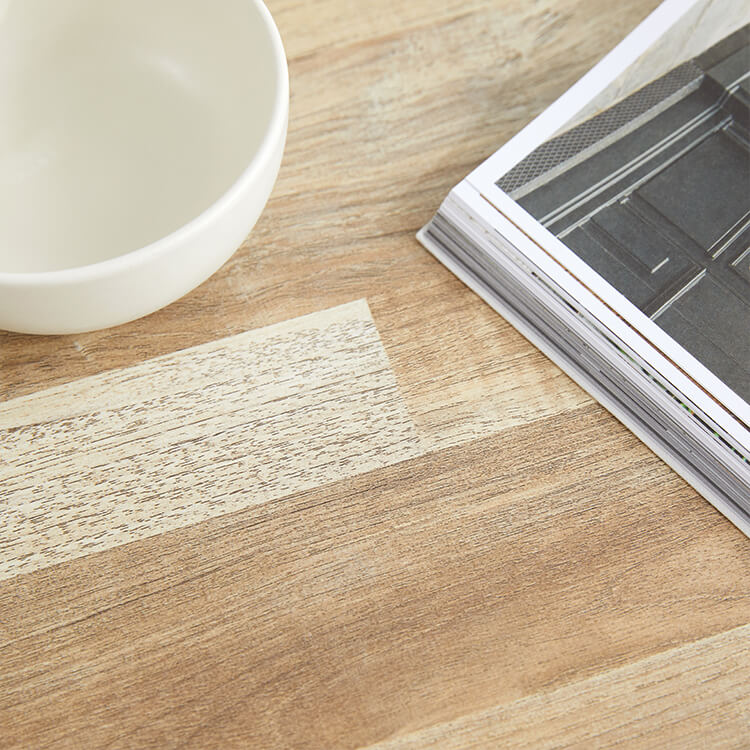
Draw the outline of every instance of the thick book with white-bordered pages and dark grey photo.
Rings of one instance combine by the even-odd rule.
[[[750,535],[748,24],[662,3],[419,238]]]

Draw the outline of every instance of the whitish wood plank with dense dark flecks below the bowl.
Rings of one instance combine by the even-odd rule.
[[[364,301],[0,404],[0,579],[419,453]]]

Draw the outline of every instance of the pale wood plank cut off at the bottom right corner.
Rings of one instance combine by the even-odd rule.
[[[370,750],[747,748],[750,626]]]

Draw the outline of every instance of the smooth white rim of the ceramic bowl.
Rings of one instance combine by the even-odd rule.
[[[13,287],[16,289],[39,286],[53,287],[96,281],[97,279],[127,272],[149,258],[169,253],[175,245],[181,244],[190,235],[200,232],[202,228],[215,221],[221,214],[227,211],[231,204],[252,185],[265,168],[266,163],[272,159],[278,145],[279,137],[283,138],[286,133],[289,113],[289,68],[281,34],[271,15],[271,11],[268,10],[263,0],[246,1],[258,9],[260,19],[271,41],[274,72],[276,75],[276,92],[266,132],[250,162],[242,170],[239,177],[222,195],[196,217],[173,232],[160,237],[158,240],[154,240],[134,250],[129,250],[121,255],[116,255],[114,258],[108,258],[96,263],[88,263],[83,266],[73,266],[71,268],[52,271],[14,272],[0,270],[0,287]]]

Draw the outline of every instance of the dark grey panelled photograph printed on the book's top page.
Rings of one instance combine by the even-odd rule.
[[[750,403],[750,26],[497,184]]]

